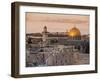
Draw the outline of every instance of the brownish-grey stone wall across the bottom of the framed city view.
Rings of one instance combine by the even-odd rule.
[[[46,48],[45,52],[29,53],[27,63],[32,66],[60,66],[74,65],[79,62],[79,52],[75,49]]]

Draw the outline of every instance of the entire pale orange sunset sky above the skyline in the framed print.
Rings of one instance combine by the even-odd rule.
[[[26,33],[42,32],[44,26],[47,26],[48,32],[66,32],[76,27],[81,34],[89,34],[89,16],[26,13]]]

